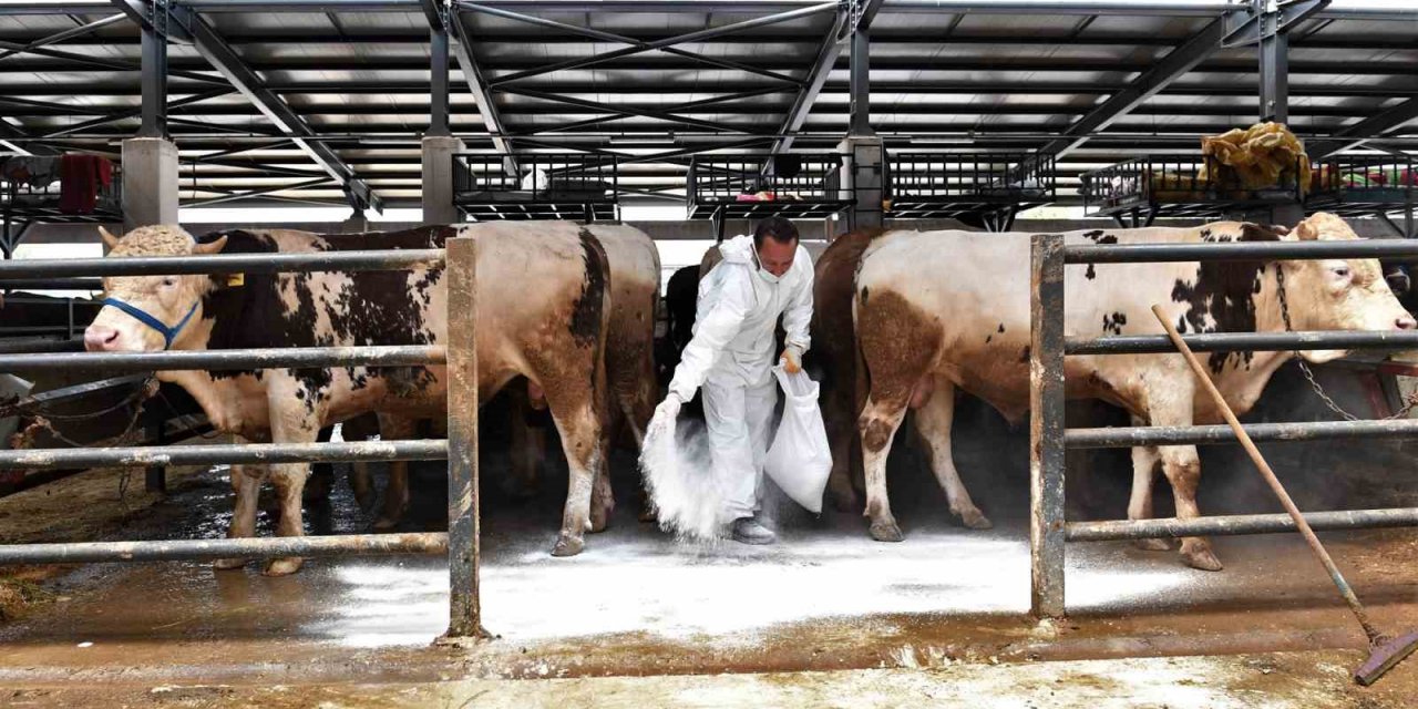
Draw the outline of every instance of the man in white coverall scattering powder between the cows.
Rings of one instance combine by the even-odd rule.
[[[713,474],[727,489],[723,519],[733,520],[735,540],[771,545],[776,536],[757,512],[778,396],[774,329],[781,315],[787,346],[778,362],[800,372],[813,320],[813,261],[793,223],[778,217],[759,223],[752,237],[720,244],[719,252],[723,261],[699,282],[693,339],[655,418],[672,420],[703,387]]]

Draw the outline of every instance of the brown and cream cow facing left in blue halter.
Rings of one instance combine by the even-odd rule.
[[[450,237],[476,240],[478,393],[485,403],[513,377],[546,391],[562,434],[570,485],[554,556],[579,553],[601,529],[610,491],[601,469],[610,272],[597,231],[571,223],[496,223],[424,227],[390,234],[325,238],[268,230],[224,231],[194,240],[176,225],[101,231],[109,258],[203,257],[384,248],[437,248]],[[105,308],[85,330],[92,352],[221,350],[447,342],[442,268],[373,272],[245,274],[244,277],[112,277]],[[447,370],[427,367],[162,372],[190,391],[220,431],[248,441],[311,442],[329,424],[377,411],[391,420],[442,417]],[[403,432],[403,431],[400,431]],[[387,435],[394,438],[397,435]],[[281,499],[282,536],[302,535],[301,489],[308,464],[234,465],[235,513],[228,536],[252,536],[261,482]],[[394,491],[396,502],[401,502]],[[272,576],[301,559],[267,564]],[[218,569],[242,566],[217,562]]]

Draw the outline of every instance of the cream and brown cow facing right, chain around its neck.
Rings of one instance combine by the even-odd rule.
[[[1191,228],[1092,230],[1066,244],[1205,241],[1344,241],[1353,230],[1333,214],[1314,214],[1293,231],[1222,221]],[[871,240],[856,272],[852,312],[868,393],[858,418],[871,536],[899,542],[886,498],[886,455],[908,408],[930,442],[932,468],[953,513],[968,526],[987,523],[960,482],[950,452],[957,389],[976,394],[1005,418],[1029,410],[1029,235],[959,231],[891,231]],[[1283,274],[1283,278],[1279,275]],[[1288,302],[1282,312],[1280,286]],[[1065,277],[1065,335],[1156,335],[1150,306],[1160,303],[1184,333],[1295,330],[1394,330],[1415,328],[1384,282],[1377,259],[1076,265]],[[824,336],[818,335],[818,342]],[[1302,353],[1309,362],[1340,350]],[[1286,352],[1212,353],[1210,372],[1227,403],[1248,411]],[[1151,425],[1221,421],[1181,354],[1075,356],[1065,366],[1071,398],[1099,398]],[[1151,479],[1160,462],[1177,516],[1200,515],[1201,465],[1193,445],[1139,448],[1133,454],[1129,518],[1150,516]],[[1153,547],[1163,545],[1153,543]],[[1221,562],[1205,539],[1181,543],[1184,560],[1202,570]]]

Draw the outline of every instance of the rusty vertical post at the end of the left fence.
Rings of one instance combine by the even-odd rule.
[[[476,242],[450,238],[448,278],[448,637],[482,637],[478,600]]]

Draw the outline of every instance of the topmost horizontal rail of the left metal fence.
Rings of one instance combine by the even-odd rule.
[[[311,271],[403,271],[441,268],[444,250],[407,248],[372,251],[319,251],[313,254],[214,254],[199,257],[45,258],[0,262],[0,278],[10,286],[31,278],[281,274]]]

